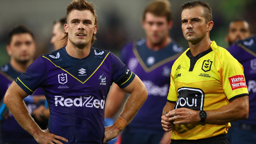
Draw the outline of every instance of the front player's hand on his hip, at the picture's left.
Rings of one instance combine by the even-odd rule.
[[[68,142],[68,140],[66,138],[52,134],[49,132],[48,129],[42,130],[42,133],[38,134],[37,136],[34,136],[34,138],[40,144],[54,144],[54,143],[63,144],[62,142],[60,142],[58,140]]]

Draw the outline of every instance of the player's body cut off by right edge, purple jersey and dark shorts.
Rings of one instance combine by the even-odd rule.
[[[249,91],[249,117],[231,122],[227,133],[230,144],[256,142],[256,36],[239,41],[227,49],[243,65]]]

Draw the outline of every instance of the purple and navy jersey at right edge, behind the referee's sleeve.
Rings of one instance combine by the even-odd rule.
[[[256,121],[256,36],[239,41],[227,49],[243,65],[249,92],[249,117],[241,123],[255,125]]]

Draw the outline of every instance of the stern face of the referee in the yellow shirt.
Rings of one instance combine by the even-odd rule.
[[[181,13],[181,28],[185,39],[191,43],[198,43],[207,34],[207,23],[203,17],[202,7],[184,9]]]

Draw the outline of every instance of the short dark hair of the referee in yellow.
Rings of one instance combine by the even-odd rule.
[[[202,2],[202,1],[193,1],[193,2],[187,2],[181,6],[181,12],[184,9],[191,9],[193,7],[201,6],[203,7],[203,17],[205,18],[205,22],[210,22],[213,19],[213,15],[211,13],[211,8],[209,7],[208,3]]]

